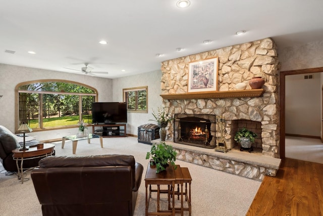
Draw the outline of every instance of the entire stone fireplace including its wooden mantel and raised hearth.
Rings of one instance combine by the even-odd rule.
[[[188,93],[189,62],[212,57],[219,57],[218,91]],[[233,140],[234,134],[239,128],[248,127],[258,135],[253,147],[257,149],[262,157],[259,160],[279,158],[278,67],[276,45],[271,38],[165,61],[161,65],[161,72],[163,73],[161,77],[163,107],[166,112],[175,115],[175,118],[180,117],[187,121],[190,121],[192,117],[204,119],[205,122],[201,122],[200,127],[203,129],[203,126],[207,126],[209,137],[206,143],[209,143],[211,147],[215,145],[218,137],[214,118],[222,116],[225,119],[226,133],[224,140],[229,149],[225,157],[237,146],[237,143]],[[249,86],[248,81],[254,76],[261,76],[265,80],[262,89],[252,90]],[[235,85],[239,82],[246,83],[247,89],[236,90]],[[182,122],[182,120],[175,120],[174,124],[168,125],[167,141],[177,142],[179,138],[179,122]],[[180,135],[186,136],[187,133],[181,132]],[[203,137],[203,135],[201,136]],[[198,136],[194,138],[198,139]],[[186,143],[186,141],[183,142]],[[187,151],[184,153],[180,149],[179,151],[178,158],[188,161],[187,155],[185,155]],[[224,162],[221,157],[212,158],[213,164],[210,164],[209,158],[205,159],[207,155],[201,153],[200,150],[195,151],[199,152],[200,158],[197,159],[194,152],[190,153],[191,157],[195,157],[196,161],[199,161],[196,163],[200,163],[200,165],[226,170],[231,173],[239,172],[236,170],[239,166],[230,159]],[[254,157],[255,155],[240,151],[236,151],[235,154],[249,154],[249,157]],[[212,157],[214,156],[213,153],[211,155]],[[191,160],[194,162],[194,159]],[[241,160],[238,160],[237,163],[241,164]],[[252,159],[251,161],[243,162],[245,166],[252,167],[249,167],[250,169],[257,170],[257,174],[252,178],[261,179],[263,175],[276,175],[277,165],[259,166],[256,165],[258,162],[252,163]],[[219,168],[219,164],[222,164],[221,168]]]

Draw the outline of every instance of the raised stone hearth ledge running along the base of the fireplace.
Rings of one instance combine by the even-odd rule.
[[[160,139],[152,140],[152,144],[159,143]],[[178,152],[177,159],[197,165],[229,172],[241,177],[262,181],[264,176],[276,176],[281,159],[262,156],[261,152],[240,152],[232,149],[227,153],[217,152],[214,149],[205,149],[196,146],[182,145],[172,141],[165,141]]]

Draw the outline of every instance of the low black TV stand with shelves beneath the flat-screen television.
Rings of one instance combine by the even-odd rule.
[[[92,124],[92,134],[102,137],[126,137],[126,124]]]

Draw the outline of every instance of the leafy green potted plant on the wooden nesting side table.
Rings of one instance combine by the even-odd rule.
[[[154,144],[151,146],[150,152],[147,152],[146,159],[151,157],[150,165],[156,165],[156,173],[166,169],[168,165],[174,166],[177,152],[173,149],[173,146],[166,145],[165,142]]]

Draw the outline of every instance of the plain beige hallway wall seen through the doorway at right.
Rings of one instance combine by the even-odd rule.
[[[312,79],[304,79],[312,75]],[[285,77],[286,134],[320,136],[321,85],[320,73]]]

